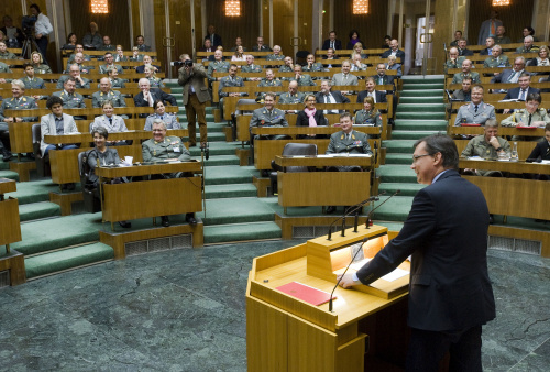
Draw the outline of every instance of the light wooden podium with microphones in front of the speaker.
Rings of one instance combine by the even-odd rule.
[[[348,229],[254,259],[246,288],[249,371],[380,371],[403,368],[407,344],[409,275],[378,280],[360,291],[338,287],[333,311],[278,289],[292,282],[331,292],[353,247],[372,258],[388,241],[387,228]],[[361,252],[360,252],[361,253]],[[408,263],[402,266],[408,270]],[[351,272],[351,270],[349,271]],[[365,362],[366,361],[366,362]]]

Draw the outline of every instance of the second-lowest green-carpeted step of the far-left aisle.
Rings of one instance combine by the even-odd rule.
[[[99,230],[102,228],[101,214],[84,214],[30,221],[21,223],[23,240],[12,243],[11,247],[23,254],[46,252],[98,241]]]

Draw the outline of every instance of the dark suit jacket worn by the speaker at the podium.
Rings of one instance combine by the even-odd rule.
[[[399,234],[358,272],[369,284],[407,256],[408,324],[463,330],[495,318],[487,273],[488,209],[480,188],[454,169],[417,193]]]

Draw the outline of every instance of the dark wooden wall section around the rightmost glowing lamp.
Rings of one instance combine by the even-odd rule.
[[[477,36],[483,21],[488,19],[491,13],[491,0],[476,0],[470,2],[468,43],[477,44]],[[513,43],[522,39],[522,30],[531,24],[534,0],[512,1],[510,6],[496,7],[498,19],[506,28],[506,35]],[[437,21],[437,20],[436,20]],[[535,30],[537,32],[537,30]]]

